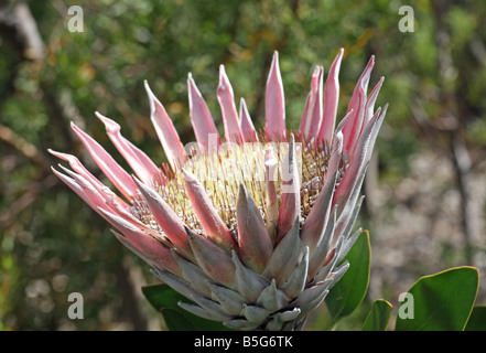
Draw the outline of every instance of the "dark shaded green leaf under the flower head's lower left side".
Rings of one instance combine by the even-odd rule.
[[[177,302],[191,300],[180,295],[168,285],[142,287],[147,300],[164,318],[170,331],[228,331],[229,329],[217,321],[199,318],[179,307]]]

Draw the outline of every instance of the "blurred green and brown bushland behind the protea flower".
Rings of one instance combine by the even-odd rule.
[[[370,85],[385,76],[390,104],[364,188],[360,220],[371,237],[365,307],[398,296],[420,276],[473,265],[486,272],[486,2],[484,1],[129,1],[0,2],[0,330],[155,330],[140,287],[149,268],[51,172],[47,148],[80,157],[98,173],[69,121],[111,147],[95,110],[164,161],[149,119],[148,79],[181,138],[194,139],[192,72],[223,128],[218,65],[263,126],[264,82],[274,50],[288,125],[298,127],[314,65],[327,72],[341,47],[343,116],[370,55]],[[69,32],[71,6],[84,32]],[[400,32],[401,6],[414,31]],[[485,303],[486,286],[478,304]],[[69,320],[67,296],[84,296]],[[363,322],[355,312],[342,329]],[[359,320],[357,320],[359,319]],[[325,308],[307,329],[318,330]]]

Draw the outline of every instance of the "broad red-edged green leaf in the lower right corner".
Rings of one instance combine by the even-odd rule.
[[[420,278],[399,308],[397,331],[462,331],[473,310],[479,272],[456,267]],[[403,308],[407,307],[407,311]]]

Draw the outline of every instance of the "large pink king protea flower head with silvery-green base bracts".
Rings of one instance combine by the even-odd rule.
[[[76,157],[50,150],[72,168],[53,171],[162,281],[191,299],[182,308],[233,329],[299,330],[349,266],[342,259],[360,233],[353,233],[360,186],[387,110],[375,111],[382,78],[367,95],[371,57],[335,128],[342,58],[343,50],[325,86],[323,67],[315,68],[298,130],[285,127],[276,52],[262,131],[255,129],[244,99],[237,110],[222,65],[217,99],[225,142],[190,74],[196,142],[186,147],[145,82],[168,163],[152,162],[121,136],[117,122],[96,113],[134,175],[74,124],[118,192]]]

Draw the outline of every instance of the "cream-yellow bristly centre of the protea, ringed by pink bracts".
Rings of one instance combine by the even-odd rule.
[[[285,181],[282,163],[288,150],[288,141],[271,142],[266,141],[264,136],[260,136],[260,142],[223,143],[216,151],[196,152],[183,168],[193,173],[204,185],[219,216],[236,236],[236,204],[239,183],[245,184],[263,220],[267,221],[267,181],[274,182],[280,203],[282,181]],[[330,151],[328,145],[316,147],[295,136],[302,222],[309,215],[323,186],[331,157]],[[342,162],[339,168],[342,169],[341,174],[344,174],[345,163]],[[203,234],[203,227],[185,190],[182,171],[170,173],[164,181],[154,181],[152,186],[193,232]],[[133,201],[132,213],[152,229],[162,233],[142,197]]]

